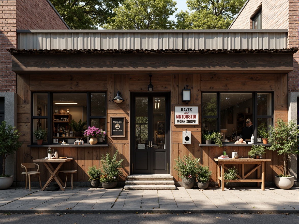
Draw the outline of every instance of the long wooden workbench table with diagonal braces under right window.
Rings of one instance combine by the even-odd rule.
[[[218,187],[220,187],[221,181],[221,189],[224,190],[225,182],[257,182],[257,187],[260,187],[260,182],[262,183],[262,190],[265,190],[265,162],[270,162],[271,159],[214,159],[218,162],[217,176],[218,176]],[[224,169],[228,169],[225,167],[225,164],[241,164],[242,165],[242,174],[237,175],[239,179],[237,180],[224,180]],[[244,165],[245,164],[256,164],[256,166],[251,169],[247,174],[244,174]],[[251,173],[257,170],[257,179],[245,179]],[[261,173],[260,173],[261,170]]]

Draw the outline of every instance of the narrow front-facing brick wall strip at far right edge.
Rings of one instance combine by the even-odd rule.
[[[299,19],[299,1],[289,0],[289,33],[288,48],[298,47],[298,19]],[[289,92],[299,91],[299,52],[293,55],[293,71],[289,73]]]

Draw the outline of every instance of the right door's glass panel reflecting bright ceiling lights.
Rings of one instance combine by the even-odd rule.
[[[156,97],[152,99],[153,113],[153,135],[152,148],[165,149],[165,97]]]

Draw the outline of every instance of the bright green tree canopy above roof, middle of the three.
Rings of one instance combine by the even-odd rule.
[[[173,29],[175,22],[168,20],[177,8],[173,0],[125,0],[114,9],[105,29]]]

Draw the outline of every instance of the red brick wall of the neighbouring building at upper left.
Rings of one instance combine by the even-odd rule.
[[[0,91],[16,92],[7,49],[17,47],[17,29],[68,29],[47,0],[0,0]]]

